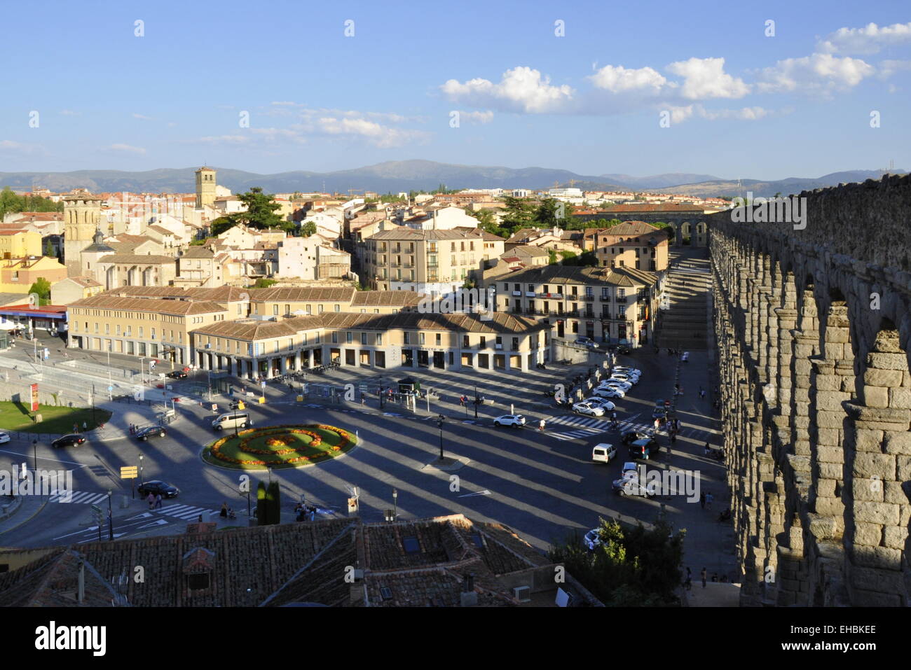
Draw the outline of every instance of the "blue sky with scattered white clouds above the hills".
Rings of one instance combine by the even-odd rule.
[[[89,0],[5,25],[0,171],[911,169],[906,2]]]

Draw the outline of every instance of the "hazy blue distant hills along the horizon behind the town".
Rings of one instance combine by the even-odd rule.
[[[75,172],[0,172],[0,187],[29,190],[35,187],[66,191],[84,187],[94,192],[192,192],[197,167],[159,168],[145,172],[119,170],[77,170]],[[884,170],[849,170],[819,178],[786,178],[777,181],[724,179],[712,175],[670,173],[650,177],[623,174],[578,175],[548,167],[486,167],[436,163],[431,160],[394,160],[367,167],[334,172],[295,170],[261,175],[243,170],[215,167],[218,183],[237,193],[259,186],[270,193],[322,191],[379,193],[446,188],[552,188],[570,185],[583,190],[660,190],[692,196],[734,197],[752,191],[754,196],[788,195],[812,188],[837,186],[840,182],[881,178]],[[892,170],[904,174],[906,170]]]

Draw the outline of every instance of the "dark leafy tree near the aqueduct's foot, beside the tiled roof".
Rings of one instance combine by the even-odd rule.
[[[650,529],[600,520],[600,545],[589,553],[574,534],[548,551],[553,563],[609,606],[678,604],[674,590],[681,584],[683,538],[663,521]]]

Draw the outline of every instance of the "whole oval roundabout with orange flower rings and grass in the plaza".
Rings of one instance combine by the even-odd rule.
[[[332,460],[357,443],[351,431],[322,423],[248,428],[202,450],[210,465],[234,470],[300,468]]]

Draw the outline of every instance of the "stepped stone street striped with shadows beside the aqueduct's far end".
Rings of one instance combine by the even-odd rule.
[[[705,350],[708,346],[711,272],[707,249],[686,249],[670,255],[664,295],[670,308],[661,310],[656,341],[659,347]]]

